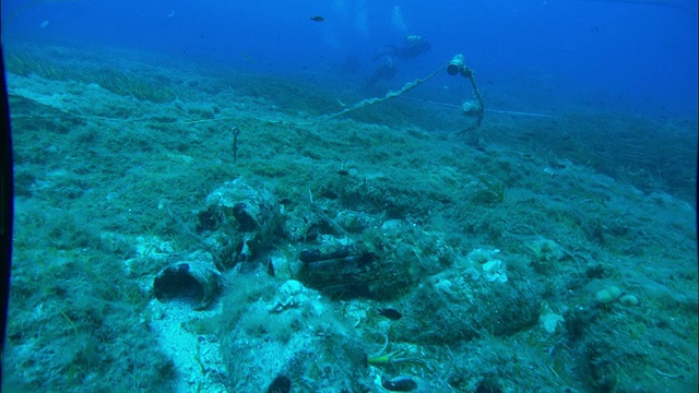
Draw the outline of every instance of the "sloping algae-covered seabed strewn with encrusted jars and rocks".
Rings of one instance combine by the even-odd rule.
[[[5,49],[8,391],[696,389],[696,119]]]

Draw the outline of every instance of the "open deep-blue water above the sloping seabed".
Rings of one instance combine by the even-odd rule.
[[[119,46],[232,69],[362,78],[386,45],[422,35],[431,49],[399,63],[395,84],[455,53],[495,109],[591,109],[697,117],[697,3],[638,1],[19,1],[2,2],[3,41]],[[311,16],[322,15],[323,22]],[[47,24],[48,22],[48,24]],[[359,76],[356,76],[359,78]],[[455,82],[443,76],[439,87]],[[441,94],[440,94],[441,92]],[[423,94],[458,100],[440,88]],[[463,97],[461,97],[463,98]],[[498,107],[499,106],[499,107]],[[490,108],[494,108],[490,106]]]

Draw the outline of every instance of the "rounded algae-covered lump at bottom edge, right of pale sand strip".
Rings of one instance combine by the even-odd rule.
[[[254,275],[229,287],[218,337],[230,391],[369,391],[363,343],[318,291]]]

